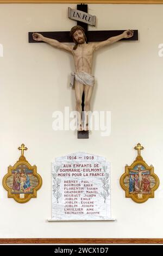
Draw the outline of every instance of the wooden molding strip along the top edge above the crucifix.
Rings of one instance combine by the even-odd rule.
[[[163,4],[163,0],[0,0],[0,3]]]

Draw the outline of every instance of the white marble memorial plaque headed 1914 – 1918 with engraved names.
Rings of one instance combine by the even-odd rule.
[[[110,164],[74,153],[52,162],[52,220],[110,220]]]

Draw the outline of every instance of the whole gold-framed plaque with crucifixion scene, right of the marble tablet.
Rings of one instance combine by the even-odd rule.
[[[126,197],[130,197],[136,203],[144,203],[148,198],[154,197],[154,191],[159,186],[159,178],[154,173],[154,167],[148,166],[141,156],[144,148],[140,143],[134,147],[137,150],[135,161],[128,166],[126,164],[125,173],[121,176],[120,184],[126,191]]]

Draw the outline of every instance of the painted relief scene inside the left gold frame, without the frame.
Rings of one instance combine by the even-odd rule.
[[[7,186],[11,188],[11,194],[33,194],[33,188],[38,185],[38,179],[33,175],[33,170],[28,169],[26,164],[17,166],[11,171],[7,179]]]

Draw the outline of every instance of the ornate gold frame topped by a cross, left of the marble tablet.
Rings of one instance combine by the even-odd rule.
[[[22,148],[23,148],[23,150],[27,150],[27,148],[24,148],[24,144],[22,144],[21,146],[22,147],[18,148],[19,150],[22,150]],[[20,194],[11,193],[11,188],[8,187],[8,185],[7,185],[7,179],[9,178],[9,176],[12,175],[12,170],[16,170],[16,168],[18,166],[20,166],[21,164],[25,164],[29,170],[33,170],[33,175],[36,176],[37,180],[38,180],[38,185],[33,188],[33,193],[32,194],[24,193],[24,198],[20,198]],[[30,163],[26,160],[26,157],[24,157],[24,152],[22,151],[19,160],[14,164],[14,166],[8,167],[8,173],[3,177],[2,184],[3,184],[3,187],[5,188],[5,190],[8,191],[9,198],[14,198],[16,200],[16,202],[18,202],[18,203],[26,203],[30,200],[30,198],[37,197],[37,190],[39,190],[39,188],[42,185],[42,178],[37,173],[37,167],[35,165],[34,166],[30,165]]]

